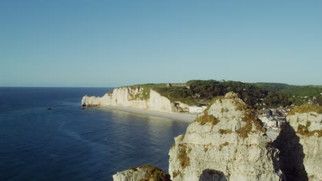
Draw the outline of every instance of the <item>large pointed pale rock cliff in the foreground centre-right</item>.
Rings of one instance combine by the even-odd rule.
[[[172,180],[279,180],[270,138],[235,93],[217,99],[175,138]]]

